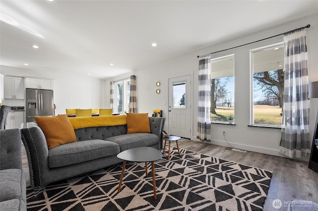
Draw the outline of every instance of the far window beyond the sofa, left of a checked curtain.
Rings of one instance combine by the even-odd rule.
[[[118,81],[114,83],[114,86],[114,113],[123,114],[129,112],[130,80]]]

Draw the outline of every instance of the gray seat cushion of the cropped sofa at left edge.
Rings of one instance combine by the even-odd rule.
[[[0,202],[23,199],[26,203],[25,174],[22,169],[0,170]]]

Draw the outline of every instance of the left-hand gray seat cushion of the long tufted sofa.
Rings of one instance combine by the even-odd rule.
[[[118,144],[104,140],[87,140],[67,143],[49,149],[50,168],[73,165],[119,153]]]

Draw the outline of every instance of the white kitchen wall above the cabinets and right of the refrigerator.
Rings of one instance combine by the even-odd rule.
[[[55,115],[65,114],[66,108],[104,108],[105,106],[104,81],[101,79],[73,76],[61,72],[43,74],[41,71],[6,66],[0,66],[0,73],[54,79]],[[10,106],[24,106],[24,100],[2,99],[1,102]]]

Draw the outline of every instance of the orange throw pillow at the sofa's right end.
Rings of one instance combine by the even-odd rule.
[[[148,113],[127,114],[127,134],[150,133],[150,123]]]

